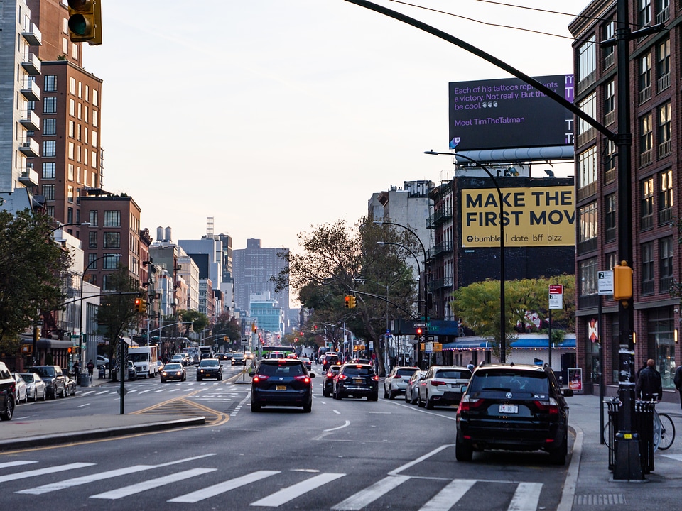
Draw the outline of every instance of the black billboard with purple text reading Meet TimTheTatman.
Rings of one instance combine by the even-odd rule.
[[[534,77],[573,103],[573,75]],[[449,84],[450,149],[573,145],[573,114],[519,78]]]

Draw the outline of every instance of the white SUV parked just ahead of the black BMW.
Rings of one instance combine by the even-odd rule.
[[[417,405],[427,407],[457,405],[469,383],[471,371],[460,366],[431,366],[419,385]]]

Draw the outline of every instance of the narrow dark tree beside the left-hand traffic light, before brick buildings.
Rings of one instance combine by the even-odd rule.
[[[99,333],[109,341],[109,358],[114,360],[117,341],[144,318],[144,312],[135,311],[136,297],[143,296],[136,280],[130,277],[128,267],[119,265],[107,281],[109,289],[97,309]]]

